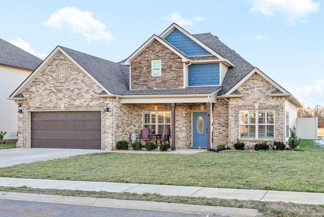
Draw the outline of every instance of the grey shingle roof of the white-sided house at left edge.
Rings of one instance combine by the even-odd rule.
[[[0,39],[0,65],[34,70],[42,59]]]

